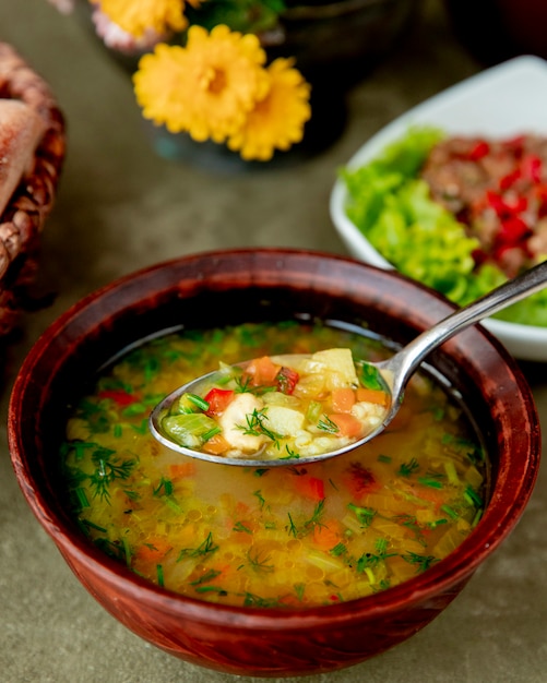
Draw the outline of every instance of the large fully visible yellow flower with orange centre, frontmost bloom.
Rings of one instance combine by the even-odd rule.
[[[265,52],[253,34],[191,26],[185,48],[158,45],[139,62],[135,95],[145,118],[200,142],[224,142],[267,92]]]

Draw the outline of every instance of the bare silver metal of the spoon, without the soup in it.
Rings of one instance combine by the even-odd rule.
[[[500,287],[492,289],[484,297],[480,297],[468,305],[454,311],[454,313],[451,313],[429,329],[423,332],[415,339],[413,339],[413,342],[388,360],[378,363],[369,363],[379,370],[381,375],[385,379],[391,391],[391,404],[379,427],[365,434],[365,436],[358,441],[354,441],[349,445],[337,448],[336,451],[329,451],[319,455],[300,457],[298,459],[282,459],[281,457],[278,459],[261,459],[260,457],[252,457],[252,454],[249,457],[223,457],[201,453],[200,451],[181,446],[173,441],[162,430],[160,417],[165,415],[165,411],[168,410],[171,404],[177,400],[181,394],[186,392],[200,394],[200,386],[203,386],[204,383],[214,379],[219,371],[215,371],[193,380],[166,396],[152,411],[150,417],[151,432],[157,441],[173,451],[177,451],[202,460],[222,463],[224,465],[239,465],[246,467],[272,467],[295,464],[302,465],[305,463],[314,463],[342,455],[343,453],[361,446],[374,436],[378,436],[378,434],[380,434],[388,427],[401,407],[404,388],[408,380],[430,351],[474,323],[477,323],[484,317],[487,317],[497,311],[500,311],[508,305],[515,303],[516,301],[520,301],[521,299],[524,299],[540,289],[544,289],[545,287],[547,287],[547,262],[544,262],[526,271],[524,274],[508,280]],[[283,358],[295,359],[298,356],[293,355]],[[241,363],[241,366],[245,366],[245,363]]]

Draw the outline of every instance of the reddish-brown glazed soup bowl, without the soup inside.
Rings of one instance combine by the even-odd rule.
[[[216,312],[214,321],[203,311]],[[461,392],[492,465],[483,519],[447,559],[370,597],[310,609],[239,609],[160,589],[92,546],[63,508],[56,459],[66,406],[82,381],[127,345],[180,323],[366,320],[406,343],[452,311],[439,295],[345,257],[281,249],[204,253],[127,276],[75,304],[43,335],[9,408],[13,466],[34,514],[87,590],[119,621],[194,664],[282,676],[355,664],[415,634],[459,594],[516,524],[539,460],[533,397],[515,361],[486,331],[457,335],[429,359]]]

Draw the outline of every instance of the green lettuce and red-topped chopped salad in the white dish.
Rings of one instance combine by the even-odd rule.
[[[346,214],[371,245],[459,305],[547,257],[547,139],[416,127],[341,172]],[[495,316],[547,326],[547,291]]]

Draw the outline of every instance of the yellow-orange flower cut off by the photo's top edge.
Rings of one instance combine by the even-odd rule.
[[[100,0],[100,10],[135,38],[147,29],[163,35],[188,25],[185,0]]]

